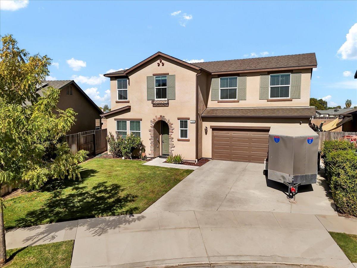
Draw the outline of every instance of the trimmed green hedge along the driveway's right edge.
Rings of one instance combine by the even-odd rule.
[[[336,207],[341,213],[357,216],[356,148],[346,141],[325,141],[322,154]]]

